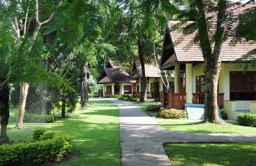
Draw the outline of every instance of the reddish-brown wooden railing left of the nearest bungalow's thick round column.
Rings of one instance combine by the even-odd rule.
[[[186,93],[168,92],[168,108],[184,109],[186,103]]]

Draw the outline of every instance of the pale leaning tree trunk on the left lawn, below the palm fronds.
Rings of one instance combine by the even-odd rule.
[[[23,128],[23,116],[25,111],[27,95],[28,95],[28,83],[22,82],[20,85],[20,107],[19,107],[17,122],[15,126],[18,128]]]

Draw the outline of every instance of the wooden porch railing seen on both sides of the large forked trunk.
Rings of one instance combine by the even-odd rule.
[[[193,99],[192,99],[193,104],[204,104],[205,93],[192,93],[192,95],[193,95]],[[217,103],[220,109],[224,108],[224,93],[217,94]]]

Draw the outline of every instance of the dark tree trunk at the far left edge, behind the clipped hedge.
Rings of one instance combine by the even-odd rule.
[[[4,81],[4,79],[0,79],[0,84]],[[8,124],[8,119],[10,117],[9,113],[9,94],[10,88],[8,85],[4,85],[0,90],[0,116],[1,116],[1,133],[0,139],[9,140],[6,129]]]

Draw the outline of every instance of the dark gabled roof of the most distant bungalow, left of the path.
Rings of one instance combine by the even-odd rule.
[[[97,84],[104,83],[137,83],[137,80],[132,80],[128,72],[116,72],[114,68],[104,68],[100,74]]]

